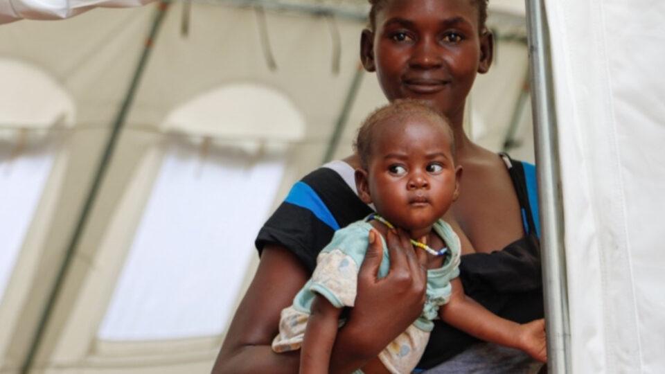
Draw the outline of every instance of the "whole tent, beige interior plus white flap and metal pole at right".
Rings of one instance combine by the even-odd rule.
[[[0,3],[2,373],[209,371],[258,226],[384,102],[364,1],[91,10],[145,2]],[[665,3],[490,3],[466,125],[533,160],[531,89],[553,372],[660,373]]]

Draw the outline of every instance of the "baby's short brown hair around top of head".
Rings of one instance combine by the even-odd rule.
[[[363,121],[362,125],[360,125],[358,135],[356,136],[355,142],[353,142],[353,148],[360,156],[362,168],[367,168],[369,165],[369,159],[372,156],[372,143],[375,137],[374,131],[376,125],[390,117],[405,119],[413,115],[425,116],[437,123],[441,123],[447,131],[448,136],[450,136],[450,152],[452,152],[452,156],[455,157],[455,137],[447,118],[420,100],[398,99],[376,109],[365,119],[365,121]]]

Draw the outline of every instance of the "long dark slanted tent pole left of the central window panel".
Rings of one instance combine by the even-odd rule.
[[[48,325],[48,321],[51,319],[51,314],[53,314],[53,310],[55,309],[55,304],[57,303],[58,296],[60,295],[60,291],[62,290],[62,285],[64,285],[64,279],[67,277],[69,268],[71,267],[71,263],[73,262],[74,255],[76,252],[76,247],[78,247],[78,242],[81,238],[83,231],[85,230],[85,224],[87,223],[90,211],[97,198],[99,189],[102,185],[103,178],[108,170],[109,163],[113,157],[113,152],[116,148],[116,143],[118,142],[118,136],[122,130],[123,125],[125,124],[125,119],[127,118],[127,114],[130,111],[130,107],[132,107],[134,96],[136,94],[136,89],[138,89],[139,87],[139,82],[141,81],[141,76],[143,75],[143,71],[145,70],[145,65],[148,63],[148,58],[150,57],[150,52],[152,51],[154,40],[157,37],[157,34],[159,32],[159,27],[162,24],[162,21],[164,19],[164,16],[166,15],[166,11],[168,10],[169,5],[170,5],[169,0],[161,0],[159,2],[159,5],[157,6],[157,10],[155,12],[154,19],[152,21],[152,27],[150,28],[148,39],[146,39],[145,41],[145,46],[143,47],[143,51],[141,53],[139,62],[136,65],[136,70],[134,71],[132,81],[130,82],[130,87],[129,89],[127,89],[127,94],[125,94],[123,104],[120,110],[118,111],[116,119],[113,123],[111,135],[107,140],[106,147],[103,156],[100,159],[100,163],[97,168],[95,178],[92,182],[90,190],[88,191],[85,204],[83,205],[78,222],[76,224],[76,229],[71,235],[69,245],[67,246],[67,249],[64,252],[62,265],[60,266],[60,269],[57,272],[57,276],[55,278],[55,282],[53,283],[53,290],[51,290],[51,293],[48,295],[48,300],[46,301],[46,305],[44,306],[44,312],[42,312],[42,317],[39,319],[37,330],[35,331],[35,335],[33,336],[33,339],[30,343],[28,355],[26,356],[24,364],[21,367],[21,374],[30,373],[30,370],[33,368],[35,364],[35,357],[37,355],[37,352],[39,351],[40,344],[44,339],[46,326]]]

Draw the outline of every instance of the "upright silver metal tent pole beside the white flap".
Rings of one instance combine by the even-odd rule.
[[[570,373],[570,326],[554,85],[545,0],[526,1],[549,373]]]

